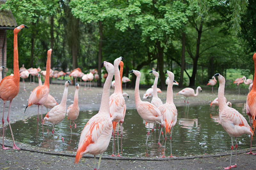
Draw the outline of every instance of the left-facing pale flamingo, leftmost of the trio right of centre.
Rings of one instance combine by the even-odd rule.
[[[141,76],[140,71],[131,70],[129,73],[134,73],[135,76],[137,77],[136,78],[136,84],[135,84],[136,109],[137,109],[137,112],[139,113],[140,117],[142,119],[144,119],[146,122],[148,122],[148,136],[149,136],[149,133],[150,133],[149,123],[161,124],[161,112],[152,103],[149,103],[148,101],[142,101],[140,99],[140,92],[139,92],[140,76]],[[146,145],[148,143],[148,136],[147,136]]]

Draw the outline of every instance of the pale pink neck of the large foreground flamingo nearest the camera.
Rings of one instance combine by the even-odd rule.
[[[113,72],[108,73],[108,77],[106,78],[106,81],[103,86],[103,92],[102,92],[102,97],[101,97],[101,103],[100,103],[100,110],[99,113],[106,113],[110,115],[110,110],[109,110],[109,92],[110,92],[110,86],[111,86],[111,81],[113,78],[114,74]]]

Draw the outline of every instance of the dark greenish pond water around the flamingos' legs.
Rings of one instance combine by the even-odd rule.
[[[244,115],[246,120],[249,122],[249,118],[245,113],[245,103],[234,103],[232,107]],[[186,108],[186,106],[183,106],[177,107],[177,110],[178,119],[172,130],[173,155],[184,156],[230,150],[231,137],[228,136],[220,124],[217,107],[198,105]],[[12,123],[15,141],[49,150],[76,152],[79,144],[80,134],[85,124],[93,115],[97,113],[98,111],[80,112],[78,119],[75,121],[77,124],[76,129],[74,128],[74,125],[72,125],[72,136],[67,117],[60,124],[57,124],[55,126],[55,130],[59,132],[62,137],[64,137],[64,142],[62,142],[61,138],[57,138],[57,134],[55,133],[55,140],[53,143],[52,124],[49,123],[49,126],[47,126],[47,122],[44,125],[44,138],[41,124],[39,124],[38,137],[36,137],[37,115],[32,116],[27,120],[17,121]],[[150,123],[150,128],[153,128],[153,123]],[[49,132],[47,132],[47,129]],[[146,153],[147,130],[148,124],[145,126],[145,122],[142,120],[136,109],[126,111],[123,123],[122,156],[162,156],[164,147],[159,147],[157,144],[159,137],[158,130],[155,130],[152,137],[148,140],[148,152]],[[5,132],[6,137],[12,139],[9,127],[6,128]],[[250,147],[249,135],[243,135],[237,139],[239,142],[238,149]],[[161,137],[160,143],[164,146],[163,137]],[[171,153],[169,134],[167,134],[165,152],[165,155],[167,156],[169,156]],[[110,141],[108,150],[104,153],[104,155],[111,154],[112,140]]]

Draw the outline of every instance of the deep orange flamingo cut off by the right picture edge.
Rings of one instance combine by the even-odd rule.
[[[254,78],[253,78],[253,84],[252,84],[252,90],[247,94],[247,99],[246,99],[246,113],[250,117],[250,126],[251,128],[253,127],[253,131],[255,130],[256,127],[256,53],[253,55],[253,61],[254,61]],[[253,123],[252,123],[253,121]],[[248,154],[253,154],[252,153],[252,137],[251,137],[251,147],[250,147],[250,152]],[[255,155],[256,153],[254,153]]]

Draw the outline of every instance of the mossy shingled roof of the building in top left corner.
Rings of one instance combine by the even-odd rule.
[[[0,6],[5,2],[6,0],[0,0]],[[17,22],[13,17],[12,11],[0,10],[0,28],[1,27],[17,27]]]

